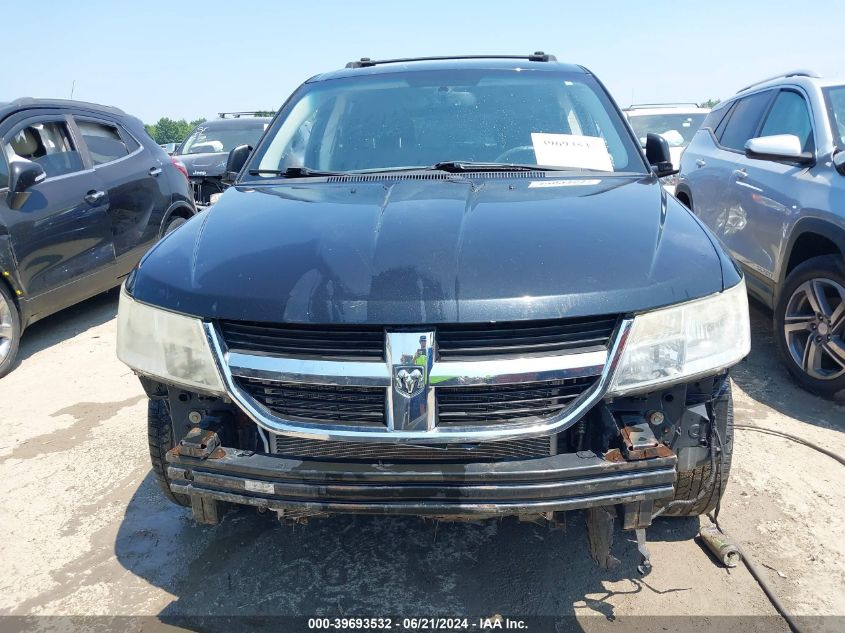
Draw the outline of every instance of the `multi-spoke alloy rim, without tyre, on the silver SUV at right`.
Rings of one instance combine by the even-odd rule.
[[[783,333],[792,360],[817,380],[845,376],[845,287],[816,278],[795,289]]]

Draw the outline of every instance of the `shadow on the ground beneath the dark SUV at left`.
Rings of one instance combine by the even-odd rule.
[[[119,296],[119,289],[114,288],[28,327],[21,337],[15,367],[48,347],[111,321],[117,315]]]

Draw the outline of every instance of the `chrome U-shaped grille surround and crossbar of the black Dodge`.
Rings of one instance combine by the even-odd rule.
[[[271,375],[302,375],[303,372],[301,370],[301,364],[303,363],[303,361],[292,361],[294,363],[299,364],[300,366],[300,369],[296,372],[291,371],[291,365],[286,365],[288,373],[274,373],[273,370],[271,370],[270,368],[280,367],[281,365],[278,364],[278,361],[286,359],[279,359],[277,357],[259,357],[229,352],[225,348],[225,344],[223,343],[222,338],[220,337],[217,331],[217,328],[211,323],[204,323],[203,325],[205,327],[209,345],[211,346],[211,349],[214,352],[213,356],[215,357],[215,361],[217,362],[218,369],[220,370],[223,382],[226,386],[226,390],[229,393],[229,396],[234,400],[234,402],[238,406],[241,407],[241,409],[243,409],[243,411],[250,418],[252,418],[252,420],[258,426],[267,431],[270,431],[271,433],[317,440],[341,440],[347,442],[423,442],[451,444],[464,442],[508,440],[537,435],[548,435],[551,433],[563,431],[564,429],[575,424],[575,422],[577,422],[587,411],[589,411],[599,400],[601,400],[601,398],[607,391],[607,388],[610,385],[611,379],[613,377],[613,372],[616,370],[616,367],[619,364],[619,360],[622,355],[622,350],[624,348],[625,341],[628,338],[628,334],[631,330],[633,322],[633,319],[624,319],[617,327],[617,330],[614,333],[614,336],[612,337],[613,343],[610,348],[609,354],[607,352],[601,352],[601,354],[606,355],[606,358],[608,358],[609,360],[604,364],[604,367],[601,368],[600,373],[598,371],[595,371],[597,369],[595,365],[586,364],[585,366],[585,363],[583,362],[585,356],[592,359],[591,362],[595,362],[598,357],[594,356],[593,352],[550,357],[557,359],[560,362],[560,371],[562,371],[564,374],[562,377],[574,377],[574,374],[578,369],[584,369],[588,372],[581,373],[579,374],[580,376],[599,375],[599,379],[590,389],[582,393],[570,404],[569,407],[566,408],[565,411],[563,411],[559,416],[555,418],[538,419],[535,422],[523,421],[521,423],[506,423],[473,427],[436,426],[431,430],[414,431],[390,430],[387,428],[387,426],[385,426],[384,429],[374,429],[373,427],[360,427],[340,424],[309,424],[297,420],[285,420],[283,418],[279,418],[270,414],[270,412],[267,411],[267,409],[265,409],[252,396],[250,396],[243,389],[238,387],[238,385],[235,383],[233,372],[230,370],[227,360],[233,363],[236,360],[241,369],[249,369],[244,368],[243,365],[260,365],[265,370],[265,373],[260,377],[267,377],[271,380],[274,379],[270,378]],[[266,361],[255,361],[256,358],[266,359]],[[532,362],[537,360],[539,359],[525,358],[519,359],[519,361],[517,362],[522,363],[521,366],[528,368],[531,366]],[[344,363],[334,363],[331,361],[314,362],[327,362],[328,364],[332,365],[335,368],[335,371],[329,376],[334,375],[335,379],[338,379],[337,366],[344,365]],[[486,364],[492,362],[501,363],[500,368],[507,370],[508,368],[513,367],[511,363],[513,363],[514,361],[480,361],[479,364]],[[387,376],[386,364],[382,365],[381,363],[345,363],[345,365],[357,364],[367,366],[366,371],[359,370],[359,373],[362,375],[369,376],[371,378],[378,377],[379,379],[382,379],[382,376]],[[458,363],[441,364],[449,365]],[[468,365],[471,363],[466,364]],[[435,363],[435,367],[437,367],[437,365],[438,363]],[[461,363],[461,365],[464,365],[464,363]],[[385,368],[384,374],[377,373],[379,372],[379,370],[376,369],[376,367],[378,366],[383,366]],[[257,369],[253,368],[251,371],[257,371]],[[569,372],[568,375],[567,372]],[[437,373],[440,374],[441,372],[438,371]],[[503,375],[509,375],[511,373],[512,372],[508,371],[507,374]],[[307,375],[310,376],[312,374]],[[531,375],[536,375],[536,372],[531,372]],[[337,382],[325,382],[325,374],[322,375],[322,378],[324,379],[324,381],[321,384],[343,384]],[[279,378],[275,379],[278,380]],[[383,379],[386,380],[386,388],[390,387],[391,380],[389,376]],[[485,379],[487,378],[485,377]],[[549,374],[546,374],[544,377],[544,380],[553,379],[554,377],[550,377]],[[527,375],[523,374],[521,380],[527,382],[530,381],[530,378]],[[517,382],[519,382],[519,380],[517,380]],[[480,384],[490,383],[482,382]],[[385,394],[385,397],[386,396],[387,394]]]

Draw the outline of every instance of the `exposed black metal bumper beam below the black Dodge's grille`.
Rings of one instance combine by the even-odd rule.
[[[609,461],[592,452],[473,464],[301,461],[218,448],[171,450],[175,493],[298,514],[528,515],[649,501],[674,493],[674,455]]]

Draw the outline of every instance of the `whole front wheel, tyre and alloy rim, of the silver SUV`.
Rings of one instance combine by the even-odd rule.
[[[775,341],[789,373],[820,396],[845,389],[845,263],[814,257],[786,278],[774,314]]]

